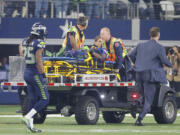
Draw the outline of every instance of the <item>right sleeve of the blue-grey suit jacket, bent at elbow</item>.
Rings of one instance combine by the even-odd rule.
[[[162,64],[165,64],[168,67],[172,67],[172,64],[166,57],[166,51],[165,51],[164,47],[161,47],[161,50],[159,51],[159,58],[160,58]]]

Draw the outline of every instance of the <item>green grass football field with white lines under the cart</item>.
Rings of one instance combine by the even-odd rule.
[[[0,135],[26,135],[30,133],[21,123],[18,106],[0,106]],[[100,117],[97,125],[77,125],[74,117],[50,115],[44,124],[35,125],[42,135],[180,135],[180,116],[174,124],[156,124],[153,116],[147,116],[145,126],[134,126],[135,119],[129,115],[121,124],[106,124]]]

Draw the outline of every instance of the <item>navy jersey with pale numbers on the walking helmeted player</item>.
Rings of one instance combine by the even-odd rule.
[[[45,48],[45,43],[41,39],[35,39],[30,44],[26,43],[27,39],[22,42],[23,54],[26,65],[36,66],[36,51],[41,48]]]

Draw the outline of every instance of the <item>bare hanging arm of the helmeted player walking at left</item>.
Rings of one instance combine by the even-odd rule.
[[[36,64],[37,64],[37,69],[40,72],[40,74],[44,73],[44,68],[43,68],[43,61],[42,61],[42,54],[43,54],[43,48],[38,49],[36,51]]]

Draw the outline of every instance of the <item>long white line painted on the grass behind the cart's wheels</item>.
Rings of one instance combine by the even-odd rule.
[[[126,114],[127,117],[131,117],[131,114]],[[147,114],[147,117],[152,117],[152,114]],[[177,116],[180,116],[180,113],[177,114]],[[0,118],[21,118],[22,115],[0,115]],[[48,114],[47,115],[48,118],[56,118],[56,117],[64,117],[61,114]],[[74,115],[72,115],[71,117],[74,117]],[[100,115],[100,117],[102,117],[102,115]]]

